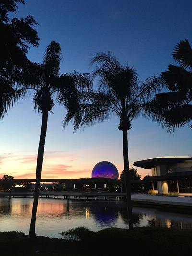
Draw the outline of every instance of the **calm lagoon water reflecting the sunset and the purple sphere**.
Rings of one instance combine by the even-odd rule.
[[[32,198],[0,198],[0,231],[29,231]],[[192,229],[192,215],[133,207],[134,226]],[[36,219],[37,235],[61,237],[73,227],[97,231],[106,227],[128,227],[126,205],[120,201],[72,201],[40,199]]]

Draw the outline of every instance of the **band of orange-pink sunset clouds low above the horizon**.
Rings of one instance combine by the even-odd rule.
[[[99,150],[97,153],[91,150],[81,150],[78,154],[65,151],[47,151],[44,154],[42,178],[84,178],[91,177],[94,165],[99,162],[104,153]],[[0,155],[0,175],[8,174],[16,178],[35,178],[36,177],[36,154],[13,153]],[[111,157],[111,156],[109,156]],[[113,162],[109,157],[106,160]],[[113,162],[119,174],[123,170],[123,161]],[[130,162],[130,167],[133,162]],[[143,178],[146,174],[151,174],[150,170],[136,168]]]

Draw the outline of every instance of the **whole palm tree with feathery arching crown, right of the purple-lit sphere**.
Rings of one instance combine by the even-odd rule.
[[[127,209],[132,228],[132,207],[130,191],[130,172],[128,158],[128,131],[132,128],[131,122],[139,115],[140,108],[145,100],[148,100],[160,89],[159,79],[149,78],[139,86],[138,75],[134,68],[122,66],[110,53],[97,53],[91,64],[98,66],[93,76],[98,76],[98,91],[84,93],[81,104],[82,121],[75,122],[74,128],[92,125],[96,122],[108,121],[112,115],[120,118],[118,129],[123,133],[123,161],[125,171],[125,185],[127,197]],[[70,120],[68,116],[65,123]]]

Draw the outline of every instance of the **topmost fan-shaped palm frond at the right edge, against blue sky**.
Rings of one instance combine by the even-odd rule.
[[[192,48],[187,39],[181,40],[173,51],[173,59],[183,68],[192,69]]]

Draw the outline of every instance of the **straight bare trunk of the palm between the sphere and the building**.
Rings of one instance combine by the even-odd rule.
[[[125,171],[125,188],[126,188],[126,197],[127,197],[127,212],[128,212],[128,219],[129,219],[129,228],[133,229],[127,130],[123,131],[123,161],[124,161],[124,171]]]

